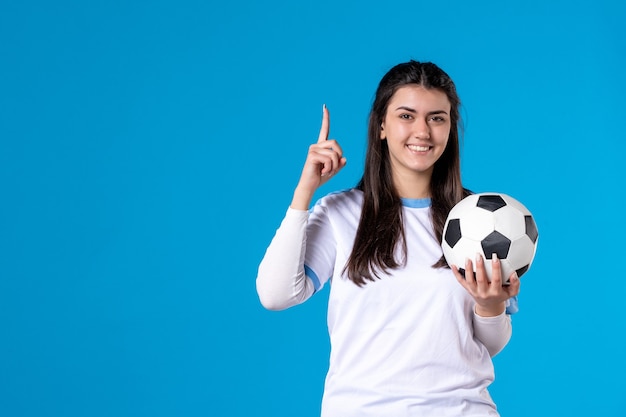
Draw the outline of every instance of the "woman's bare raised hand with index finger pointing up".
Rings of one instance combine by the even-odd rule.
[[[315,191],[346,166],[343,151],[336,140],[328,139],[329,132],[330,113],[324,106],[320,134],[317,143],[309,147],[300,181],[291,202],[293,209],[308,210]]]

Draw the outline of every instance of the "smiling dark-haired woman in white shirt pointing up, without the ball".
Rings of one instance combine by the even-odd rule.
[[[330,365],[323,417],[497,416],[491,357],[509,341],[506,310],[519,279],[502,285],[498,259],[448,266],[441,249],[461,182],[460,100],[433,63],[409,61],[380,81],[363,177],[315,191],[346,159],[328,139],[324,106],[291,206],[259,266],[263,306],[281,310],[330,284]],[[484,262],[492,262],[486,277]]]

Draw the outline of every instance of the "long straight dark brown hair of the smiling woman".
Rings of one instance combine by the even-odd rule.
[[[431,62],[411,60],[394,66],[383,76],[376,90],[369,115],[365,168],[357,185],[363,191],[363,210],[344,272],[359,286],[380,278],[380,273],[398,268],[406,262],[402,200],[393,185],[387,141],[381,140],[380,135],[389,100],[398,88],[407,84],[440,90],[450,101],[450,137],[446,149],[435,162],[430,181],[431,216],[440,243],[450,209],[469,194],[461,183],[461,101],[452,79]],[[395,256],[398,245],[402,249],[399,260]],[[445,266],[447,263],[443,256],[433,265],[436,268]]]

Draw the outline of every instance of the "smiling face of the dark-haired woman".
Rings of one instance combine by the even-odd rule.
[[[380,136],[387,139],[394,181],[416,176],[430,181],[446,149],[450,123],[450,101],[443,91],[409,84],[394,93]]]

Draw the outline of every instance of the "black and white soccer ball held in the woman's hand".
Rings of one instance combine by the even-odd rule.
[[[476,254],[485,259],[491,281],[491,258],[495,253],[502,267],[502,282],[509,283],[515,271],[521,277],[535,257],[539,233],[533,215],[522,203],[502,193],[472,194],[459,201],[448,214],[442,249],[448,265],[465,274],[465,260]]]

